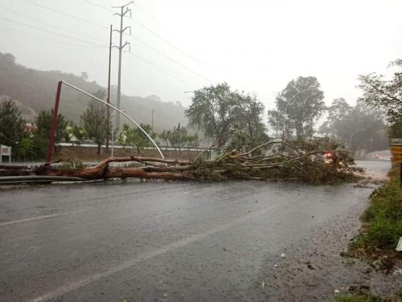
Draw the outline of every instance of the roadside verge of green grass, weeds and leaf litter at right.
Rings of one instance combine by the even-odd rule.
[[[402,188],[399,175],[400,168],[393,166],[388,173],[389,182],[371,193],[369,205],[361,214],[361,232],[350,243],[348,251],[341,255],[362,258],[372,270],[392,275],[400,282],[402,251],[397,245],[402,240]],[[370,286],[351,286],[349,294],[337,296],[335,301],[402,301],[402,286],[396,281],[394,287],[393,292],[375,295],[369,292]]]

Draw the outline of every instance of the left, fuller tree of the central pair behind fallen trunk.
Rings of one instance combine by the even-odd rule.
[[[235,124],[239,94],[223,83],[194,91],[191,101],[185,111],[190,125],[198,126],[216,139],[219,147],[224,146]]]

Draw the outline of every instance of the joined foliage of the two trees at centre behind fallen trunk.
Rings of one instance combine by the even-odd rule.
[[[245,149],[267,137],[263,111],[264,106],[256,96],[231,91],[224,83],[194,91],[186,116],[191,125],[204,130],[218,147]]]

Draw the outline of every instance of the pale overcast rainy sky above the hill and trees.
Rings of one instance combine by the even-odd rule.
[[[89,80],[106,86],[109,26],[119,25],[111,7],[127,2],[1,0],[0,51],[32,68],[86,71]],[[390,60],[402,57],[400,0],[137,0],[130,8],[132,19],[124,25],[131,26],[132,36],[124,40],[132,54],[123,54],[122,71],[127,95],[158,95],[188,105],[184,91],[226,81],[255,92],[271,108],[273,92],[299,75],[313,75],[327,104],[339,97],[353,104],[361,94],[355,88],[358,74],[385,73]],[[115,50],[113,84],[117,63]]]

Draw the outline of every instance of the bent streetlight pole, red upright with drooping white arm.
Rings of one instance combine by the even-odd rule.
[[[124,115],[129,121],[131,121],[134,125],[136,125],[142,132],[144,132],[144,134],[149,138],[150,141],[152,141],[152,143],[154,144],[154,146],[156,147],[156,149],[158,150],[160,156],[162,157],[162,159],[165,159],[165,157],[163,156],[160,148],[158,147],[158,145],[156,144],[156,142],[151,138],[151,136],[149,136],[149,134],[143,129],[141,128],[141,126],[135,121],[133,120],[130,116],[128,116],[124,111],[117,109],[115,106],[108,104],[108,102],[100,100],[98,98],[96,98],[95,96],[87,93],[86,91],[83,91],[82,89],[79,89],[78,87],[75,87],[67,82],[64,81],[59,81],[59,83],[57,84],[57,92],[56,92],[56,102],[54,103],[54,112],[53,112],[53,119],[52,119],[52,128],[50,129],[50,142],[49,142],[49,148],[47,151],[47,157],[46,157],[46,162],[49,164],[52,161],[52,153],[53,153],[53,145],[54,145],[54,135],[56,132],[56,125],[57,125],[57,113],[59,110],[59,103],[60,103],[60,94],[61,94],[61,84],[64,84],[68,87],[71,87],[72,89],[75,89],[76,91],[83,93],[84,95],[102,103],[105,104],[106,106],[109,106],[112,109],[115,109],[117,112],[120,112],[122,115]]]

